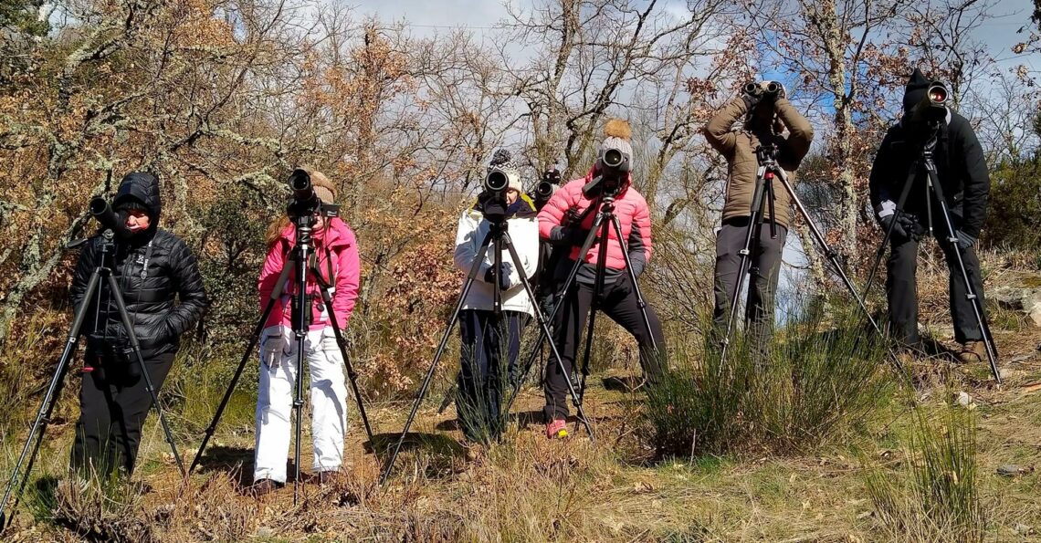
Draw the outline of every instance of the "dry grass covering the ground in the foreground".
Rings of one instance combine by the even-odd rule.
[[[1036,472],[1004,477],[998,466],[1041,461],[1041,333],[1001,332],[1010,360],[1007,387],[983,379],[986,368],[948,368],[941,359],[919,364],[934,376],[920,381],[916,405],[936,413],[954,384],[972,394],[977,408],[977,490],[988,540],[1020,541],[1041,528],[1041,480]],[[187,356],[187,355],[186,355]],[[631,363],[631,361],[630,361]],[[618,371],[615,362],[609,372]],[[605,364],[605,366],[607,366]],[[600,367],[605,367],[600,366]],[[928,368],[926,368],[928,366]],[[452,364],[446,364],[447,372]],[[981,371],[982,370],[982,371]],[[218,383],[178,378],[168,402],[182,454],[191,458],[210,412]],[[235,408],[218,431],[202,469],[182,485],[154,417],[144,436],[138,472],[130,485],[78,489],[66,473],[72,424],[52,426],[29,492],[5,541],[940,541],[894,531],[871,501],[868,477],[880,466],[894,476],[913,474],[914,419],[903,396],[877,406],[859,432],[847,432],[823,448],[763,455],[734,447],[723,457],[656,461],[639,395],[604,390],[591,380],[587,407],[596,441],[583,432],[551,442],[530,413],[540,394],[528,389],[522,413],[502,443],[467,458],[454,430],[454,415],[433,413],[436,393],[421,410],[415,445],[399,459],[386,488],[360,424],[349,436],[344,476],[326,487],[306,482],[293,505],[291,486],[263,499],[249,483],[252,434],[244,430],[249,402]],[[214,392],[215,391],[215,392]],[[179,392],[179,393],[178,393]],[[66,400],[74,404],[67,390]],[[180,394],[184,394],[181,397]],[[73,406],[74,408],[74,406]],[[32,406],[35,409],[35,406]],[[211,409],[211,408],[210,408]],[[403,423],[405,403],[372,406],[382,447]],[[202,418],[200,423],[199,418]],[[355,417],[355,422],[357,422]],[[20,447],[23,417],[5,433],[5,470]],[[305,443],[309,442],[306,437]],[[305,462],[308,462],[305,448]],[[57,491],[58,483],[66,483]],[[70,489],[77,491],[71,491]],[[951,529],[931,533],[950,536]],[[947,538],[957,540],[957,538]]]

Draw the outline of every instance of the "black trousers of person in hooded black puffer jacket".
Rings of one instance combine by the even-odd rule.
[[[162,386],[175,353],[145,360],[156,390]],[[84,371],[79,390],[79,421],[72,448],[72,467],[107,477],[116,469],[133,472],[141,430],[152,407],[152,395],[135,360],[87,355],[93,371]]]

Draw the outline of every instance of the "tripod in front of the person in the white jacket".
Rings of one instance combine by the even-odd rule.
[[[393,450],[390,454],[390,459],[387,461],[386,466],[383,469],[383,474],[380,476],[380,485],[386,483],[387,476],[390,474],[390,470],[393,469],[395,461],[398,459],[399,452],[401,452],[402,444],[405,442],[405,437],[408,435],[408,429],[412,426],[412,422],[415,420],[415,414],[420,410],[420,404],[423,403],[424,396],[426,396],[428,390],[430,389],[430,382],[434,377],[434,371],[437,369],[437,364],[445,354],[445,348],[448,345],[449,338],[452,335],[452,329],[455,327],[456,322],[459,320],[459,313],[462,311],[462,306],[466,302],[466,295],[469,293],[471,287],[474,285],[474,281],[477,278],[477,274],[481,269],[481,264],[483,263],[483,256],[487,253],[488,248],[491,247],[494,252],[492,257],[493,263],[491,266],[492,270],[492,311],[496,314],[502,313],[502,281],[499,277],[502,273],[503,263],[503,249],[509,251],[510,259],[513,261],[513,266],[517,270],[517,275],[520,277],[520,284],[524,286],[525,293],[531,301],[532,309],[535,312],[535,320],[538,321],[538,326],[542,331],[540,337],[548,337],[550,334],[550,325],[542,311],[538,307],[538,301],[535,298],[535,291],[528,281],[528,276],[525,274],[524,265],[520,262],[520,257],[517,255],[516,249],[513,247],[513,241],[510,238],[510,234],[507,231],[507,224],[505,216],[503,215],[489,215],[485,214],[485,218],[488,219],[490,224],[490,229],[487,235],[484,236],[484,240],[481,241],[481,248],[477,251],[476,257],[474,258],[474,263],[471,265],[469,273],[466,275],[466,281],[463,283],[462,292],[459,293],[459,301],[456,304],[455,311],[452,312],[452,317],[449,318],[449,326],[445,330],[445,335],[441,336],[441,342],[437,346],[437,352],[434,354],[434,360],[430,363],[430,369],[427,370],[426,377],[423,379],[423,384],[420,386],[420,392],[415,396],[415,403],[412,404],[412,411],[409,412],[408,418],[405,421],[405,428],[401,432],[401,436],[398,438],[398,443],[395,445]],[[541,339],[540,339],[541,341]],[[553,356],[557,359],[557,363],[560,364],[561,371],[564,371],[564,362],[560,358],[560,353],[557,351],[557,346],[550,342],[551,350],[553,351]],[[572,380],[567,377],[566,371],[564,371],[564,379],[567,381],[567,388],[570,391],[572,398],[575,402],[576,409],[578,410],[579,419],[585,424],[586,431],[589,432],[590,437],[592,436],[592,428],[589,425],[589,420],[586,418],[585,412],[582,410],[582,402],[575,391],[575,386]],[[512,399],[507,404],[507,411],[509,411],[509,406],[512,405]]]

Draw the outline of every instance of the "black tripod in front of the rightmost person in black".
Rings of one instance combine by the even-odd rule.
[[[955,230],[955,225],[950,221],[950,209],[947,206],[947,201],[943,198],[943,187],[940,184],[939,175],[936,170],[936,163],[933,161],[933,152],[936,150],[936,144],[939,140],[940,125],[939,122],[932,121],[929,124],[929,137],[925,139],[925,144],[921,148],[921,154],[919,157],[911,163],[911,167],[908,170],[907,181],[904,182],[904,188],[900,190],[899,199],[896,202],[896,210],[893,214],[893,221],[890,222],[889,228],[886,229],[886,235],[882,238],[882,243],[879,244],[879,251],[875,254],[874,264],[871,266],[871,274],[868,276],[867,285],[864,287],[864,298],[867,298],[868,292],[871,289],[871,285],[874,282],[874,277],[879,273],[879,265],[882,263],[882,257],[885,255],[886,247],[889,244],[889,239],[892,237],[893,228],[896,226],[897,221],[904,214],[904,205],[907,203],[908,195],[911,193],[911,186],[914,184],[915,179],[918,174],[924,170],[925,172],[925,214],[929,215],[929,234],[933,233],[933,198],[936,198],[937,203],[940,206],[940,214],[943,216],[943,225],[947,229],[947,242],[950,243],[951,250],[958,260],[958,270],[961,273],[962,281],[965,282],[965,298],[972,305],[972,312],[975,315],[976,324],[980,327],[980,333],[983,335],[984,346],[987,352],[987,361],[990,364],[990,371],[994,376],[994,381],[998,385],[1001,384],[1001,373],[997,369],[997,348],[994,346],[994,338],[990,333],[990,326],[987,324],[986,314],[983,311],[983,307],[980,301],[980,296],[972,290],[972,282],[969,281],[968,272],[965,269],[965,260],[962,256],[962,247],[958,241],[958,233]],[[910,234],[910,232],[908,232]]]

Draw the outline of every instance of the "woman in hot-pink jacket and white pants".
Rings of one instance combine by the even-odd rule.
[[[323,204],[335,201],[336,187],[321,172],[309,171],[314,192]],[[295,245],[296,229],[283,219],[269,236],[268,258],[260,272],[260,305],[271,299],[275,284]],[[313,227],[315,261],[307,281],[311,300],[311,325],[304,342],[310,369],[311,438],[314,445],[312,469],[320,482],[336,472],[344,461],[347,432],[347,384],[344,359],[332,322],[326,312],[314,268],[332,286],[336,324],[347,322],[358,298],[360,265],[354,232],[336,216],[316,213]],[[296,273],[290,272],[284,290],[275,302],[260,338],[260,386],[256,410],[256,450],[253,467],[254,491],[263,494],[285,484],[289,452],[293,392],[297,379],[297,340],[293,334],[291,301]]]

